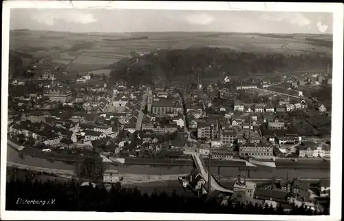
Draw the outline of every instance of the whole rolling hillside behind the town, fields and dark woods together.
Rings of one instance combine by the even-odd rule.
[[[145,54],[158,52],[158,56],[142,57],[142,62],[136,65],[140,66],[137,75],[142,75],[144,70],[148,69],[152,72],[162,73],[159,74],[162,79],[169,79],[170,76],[182,75],[180,73],[193,72],[191,69],[193,65],[206,69],[206,66],[213,63],[221,64],[223,70],[231,72],[230,74],[264,73],[268,70],[285,69],[288,66],[286,63],[291,61],[297,63],[295,67],[289,65],[292,70],[310,66],[308,61],[305,61],[308,64],[302,65],[295,59],[295,56],[297,58],[300,56],[301,61],[304,57],[322,59],[324,62],[312,61],[315,67],[322,67],[323,63],[331,60],[332,36],[222,32],[74,33],[12,30],[10,32],[10,49],[18,52],[15,56],[16,59],[11,59],[11,63],[14,63],[14,65],[10,64],[11,67],[21,63],[19,61],[21,59],[23,68],[26,63],[37,65],[44,63],[60,65],[69,72],[114,69],[114,64],[118,61],[126,61],[133,56],[138,56],[138,52]],[[24,54],[20,54],[21,52]],[[239,59],[235,55],[237,53],[239,53]],[[275,55],[268,57],[264,54]],[[190,61],[189,57],[194,55],[197,59],[194,58],[195,61]],[[13,57],[13,55],[11,56]],[[202,59],[201,56],[205,56],[205,58]],[[217,58],[214,60],[210,56]],[[265,57],[266,62],[263,63],[266,67],[261,67],[261,62],[258,62],[262,61],[260,56]],[[287,59],[283,59],[284,56]],[[178,57],[182,57],[184,61]],[[279,60],[273,60],[275,58]],[[169,59],[171,59],[170,63]],[[155,65],[152,66],[152,62]],[[135,68],[133,67],[132,70]],[[119,71],[116,70],[116,72]],[[210,76],[217,73],[215,70],[205,70],[204,72]],[[152,74],[152,76],[155,75]]]

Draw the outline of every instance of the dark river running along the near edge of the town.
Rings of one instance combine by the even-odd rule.
[[[50,169],[74,170],[74,165],[69,165],[65,162],[55,161],[50,162],[43,158],[33,158],[32,156],[24,156],[21,158],[19,152],[8,147],[7,151],[8,162],[16,162],[22,165],[32,167],[45,167]],[[190,173],[191,166],[152,166],[152,165],[111,165],[111,169],[117,169],[120,173],[131,174],[150,174],[150,175],[173,175]],[[247,171],[237,167],[211,167],[211,173],[214,175],[235,177],[238,174],[245,176]],[[250,171],[250,178],[276,178],[281,177],[296,177],[299,178],[330,178],[330,168],[271,168],[271,167],[256,167]]]

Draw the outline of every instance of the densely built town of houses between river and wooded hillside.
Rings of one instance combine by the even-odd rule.
[[[106,76],[88,74],[65,83],[51,72],[45,70],[36,81],[10,82],[8,135],[22,148],[76,156],[96,149],[107,157],[178,158],[190,146],[183,135],[186,120],[194,138],[210,138],[213,125],[213,147],[226,150],[219,158],[330,158],[325,122],[330,123],[331,107],[301,90],[328,87],[332,80],[327,73],[189,83],[180,88],[184,119],[173,85],[107,87]],[[262,153],[250,145],[273,149]]]

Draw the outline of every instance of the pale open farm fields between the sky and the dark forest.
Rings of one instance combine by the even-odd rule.
[[[143,38],[140,38],[142,36]],[[329,56],[332,54],[332,48],[314,45],[312,39],[332,41],[331,36],[322,34],[269,35],[211,32],[98,34],[21,30],[10,32],[10,49],[29,54],[35,60],[45,59],[45,63],[65,65],[73,72],[87,72],[107,68],[121,59],[130,58],[133,52],[155,52],[159,49],[184,50],[209,47],[258,53],[306,52]],[[84,46],[83,43],[89,45]],[[25,58],[23,63],[30,63],[30,59]]]

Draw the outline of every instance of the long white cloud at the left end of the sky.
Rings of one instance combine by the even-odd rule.
[[[61,12],[37,12],[32,14],[31,19],[45,25],[54,25],[57,20],[80,24],[93,23],[97,21],[93,14],[83,13],[75,10],[65,10]]]

